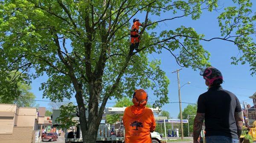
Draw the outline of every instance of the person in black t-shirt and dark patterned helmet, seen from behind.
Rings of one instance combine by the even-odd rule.
[[[239,143],[243,116],[238,98],[222,89],[223,77],[218,69],[208,67],[200,75],[204,77],[209,89],[198,98],[193,129],[194,143],[198,143],[203,121],[207,143]]]

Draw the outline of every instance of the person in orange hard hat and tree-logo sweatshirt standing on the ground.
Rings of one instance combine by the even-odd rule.
[[[145,107],[148,94],[145,90],[135,90],[134,105],[127,107],[123,116],[125,143],[152,143],[150,132],[154,132],[156,123],[151,109]]]

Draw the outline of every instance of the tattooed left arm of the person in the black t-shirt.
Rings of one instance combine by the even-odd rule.
[[[204,113],[196,113],[193,129],[194,140],[198,140],[204,122],[204,115]]]

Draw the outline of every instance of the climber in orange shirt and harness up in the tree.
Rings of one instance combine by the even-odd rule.
[[[140,43],[140,34],[139,34],[139,28],[142,26],[140,23],[140,20],[137,18],[134,18],[133,20],[134,24],[131,27],[131,45],[135,46],[135,50],[139,50],[139,43]]]

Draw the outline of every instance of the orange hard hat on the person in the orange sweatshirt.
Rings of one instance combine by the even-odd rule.
[[[145,90],[139,89],[134,91],[132,102],[134,103],[135,106],[144,107],[146,106],[147,101],[148,93]]]

